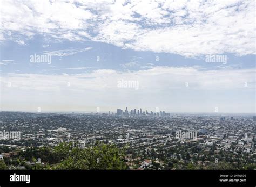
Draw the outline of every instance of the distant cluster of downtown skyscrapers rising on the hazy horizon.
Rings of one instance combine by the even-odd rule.
[[[137,115],[147,115],[147,116],[160,116],[160,117],[164,117],[164,116],[170,116],[170,113],[165,113],[165,111],[160,111],[160,112],[148,112],[146,111],[142,111],[142,109],[140,108],[139,110],[134,109],[131,111],[128,111],[127,107],[126,109],[123,111],[122,109],[117,109],[117,116],[137,116]]]

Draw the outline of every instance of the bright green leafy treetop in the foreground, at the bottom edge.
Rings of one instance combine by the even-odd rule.
[[[64,150],[66,157],[62,157],[55,169],[127,169],[124,151],[114,145],[99,143],[85,149],[61,145],[60,149]],[[56,150],[63,155],[59,148]]]

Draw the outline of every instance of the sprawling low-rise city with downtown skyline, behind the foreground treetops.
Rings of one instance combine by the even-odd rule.
[[[0,131],[20,132],[20,136],[0,137],[0,160],[9,169],[34,169],[36,164],[44,168],[48,159],[28,157],[28,149],[54,148],[63,142],[85,149],[103,142],[124,148],[126,169],[255,169],[255,121],[252,114],[129,111],[127,107],[114,113],[2,111]]]

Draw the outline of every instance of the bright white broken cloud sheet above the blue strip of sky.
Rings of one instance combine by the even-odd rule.
[[[254,1],[3,1],[0,40],[100,41],[137,51],[255,54]],[[54,40],[53,40],[54,41]]]

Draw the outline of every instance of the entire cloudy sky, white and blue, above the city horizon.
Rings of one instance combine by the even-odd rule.
[[[255,113],[254,1],[3,0],[0,7],[1,110]],[[120,88],[120,80],[139,87]]]

